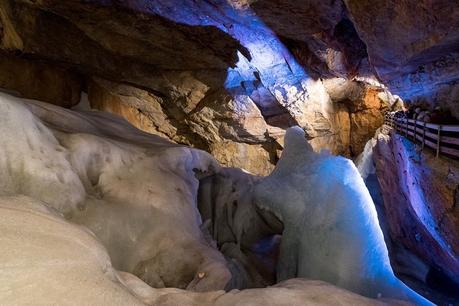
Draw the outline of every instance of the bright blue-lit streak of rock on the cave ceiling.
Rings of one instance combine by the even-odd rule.
[[[250,96],[260,87],[263,98],[256,103],[282,104],[286,100],[285,88],[295,87],[305,91],[302,85],[310,79],[294,56],[283,45],[273,31],[250,9],[236,9],[227,1],[212,3],[201,1],[160,0],[138,1],[136,9],[156,13],[178,23],[199,26],[214,26],[237,39],[249,52],[251,59],[239,53],[234,68],[228,68],[224,86],[236,98]],[[242,103],[242,101],[241,101]]]

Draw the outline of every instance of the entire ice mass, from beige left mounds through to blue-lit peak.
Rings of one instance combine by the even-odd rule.
[[[243,251],[282,234],[278,280],[427,303],[394,277],[356,168],[313,153],[299,128],[259,178],[100,112],[0,94],[0,122],[2,301],[382,303],[301,279],[219,290],[265,285]]]

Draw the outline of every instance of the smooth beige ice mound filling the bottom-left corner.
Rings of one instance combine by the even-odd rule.
[[[25,196],[0,197],[2,305],[142,305],[84,227]]]

